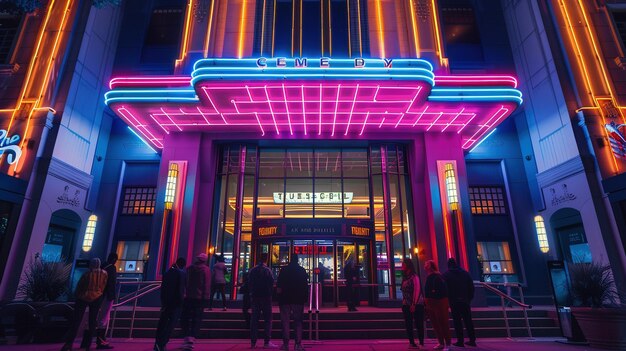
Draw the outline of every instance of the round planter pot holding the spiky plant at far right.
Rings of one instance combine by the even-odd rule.
[[[572,313],[590,346],[626,350],[626,309],[572,307]]]

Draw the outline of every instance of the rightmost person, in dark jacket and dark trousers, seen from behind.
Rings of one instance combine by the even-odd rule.
[[[472,276],[459,267],[454,258],[448,259],[448,271],[443,274],[443,279],[448,285],[448,300],[450,311],[454,321],[454,331],[457,341],[454,346],[476,346],[476,333],[472,321],[472,309],[470,303],[474,298],[474,280]],[[463,344],[463,324],[467,329],[469,341]]]

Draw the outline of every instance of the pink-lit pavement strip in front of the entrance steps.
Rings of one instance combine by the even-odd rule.
[[[272,342],[280,345],[280,340]],[[585,351],[597,350],[584,345],[564,344],[564,339],[535,338],[535,339],[479,339],[478,347],[450,348],[451,351]],[[151,339],[111,339],[114,351],[152,351],[154,341]],[[173,339],[167,350],[180,350],[181,339]],[[255,350],[263,350],[262,340],[259,340]],[[306,351],[405,351],[415,350],[408,348],[406,340],[327,340],[327,341],[303,341]],[[434,340],[427,340],[423,350],[432,350],[436,345]],[[30,344],[30,345],[0,345],[0,350],[11,351],[58,351],[61,344]],[[74,345],[78,350],[78,344]],[[93,347],[95,349],[95,347]],[[293,350],[293,341],[290,344]],[[250,350],[248,340],[198,340],[194,351],[237,351]],[[278,351],[278,349],[276,349]]]

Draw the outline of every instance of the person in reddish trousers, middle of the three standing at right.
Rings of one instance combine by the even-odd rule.
[[[452,343],[448,325],[448,287],[435,261],[426,261],[424,269],[428,274],[424,284],[425,309],[439,341],[434,349],[441,350],[450,347]]]

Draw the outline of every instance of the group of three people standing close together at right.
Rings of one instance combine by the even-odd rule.
[[[474,298],[474,282],[470,274],[459,267],[454,258],[448,260],[448,271],[441,274],[437,264],[430,260],[424,264],[427,273],[422,292],[420,279],[411,259],[402,262],[402,313],[411,348],[424,345],[424,314],[428,316],[439,344],[436,350],[452,344],[448,325],[450,309],[454,321],[457,342],[454,346],[476,346],[476,333],[472,322],[470,303]],[[419,345],[413,336],[413,324],[417,329]],[[469,341],[464,343],[463,324]]]

